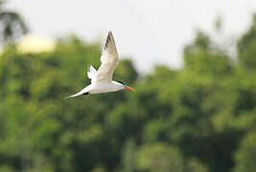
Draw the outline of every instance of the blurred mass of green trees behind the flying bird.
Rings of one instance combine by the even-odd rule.
[[[114,78],[136,92],[63,100],[89,83],[101,47],[76,36],[53,52],[0,55],[0,171],[256,171],[256,20],[238,60],[198,32],[184,67],[139,77],[121,60]]]

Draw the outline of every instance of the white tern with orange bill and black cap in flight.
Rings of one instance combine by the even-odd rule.
[[[88,94],[100,94],[106,92],[116,92],[119,90],[134,91],[133,88],[121,81],[112,80],[112,75],[118,65],[119,57],[116,51],[116,45],[112,32],[108,32],[105,47],[101,56],[102,65],[96,71],[93,66],[89,65],[87,76],[91,79],[91,84],[83,88],[79,93],[70,97],[79,97]]]

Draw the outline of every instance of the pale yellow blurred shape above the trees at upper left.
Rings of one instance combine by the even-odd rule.
[[[53,39],[35,34],[29,34],[21,38],[17,44],[17,50],[22,54],[40,54],[52,52],[55,47],[56,42]]]

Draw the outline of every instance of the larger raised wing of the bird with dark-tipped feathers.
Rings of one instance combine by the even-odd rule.
[[[112,32],[108,32],[105,47],[101,56],[102,65],[97,71],[92,83],[108,83],[112,80],[112,75],[116,69],[119,58]]]

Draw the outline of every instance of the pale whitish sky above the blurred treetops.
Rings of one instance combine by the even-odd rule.
[[[32,33],[49,38],[75,32],[104,42],[112,31],[118,53],[130,56],[141,72],[155,64],[179,67],[195,31],[212,32],[220,15],[224,34],[236,38],[256,11],[256,0],[8,0],[6,5],[22,14]]]

